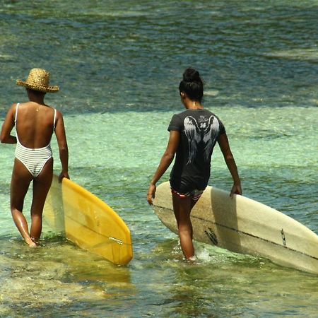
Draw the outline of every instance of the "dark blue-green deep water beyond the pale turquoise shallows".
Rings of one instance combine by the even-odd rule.
[[[317,0],[37,2],[1,1],[1,114],[35,64],[67,113],[171,110],[187,66],[218,105],[317,106]]]

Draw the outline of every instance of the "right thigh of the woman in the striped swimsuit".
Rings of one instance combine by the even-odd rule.
[[[33,180],[33,201],[32,211],[42,212],[47,199],[47,193],[53,179],[53,158],[49,159],[43,167],[40,175]]]

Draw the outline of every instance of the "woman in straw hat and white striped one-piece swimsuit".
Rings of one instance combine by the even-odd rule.
[[[16,227],[30,247],[36,247],[42,232],[42,212],[53,177],[53,157],[50,146],[53,132],[57,136],[62,171],[59,181],[68,174],[69,151],[61,112],[44,102],[46,93],[58,86],[49,86],[49,72],[31,69],[26,81],[16,81],[28,93],[28,102],[13,104],[1,129],[1,143],[16,143],[11,179],[11,213]],[[16,126],[16,136],[11,135]],[[23,203],[33,181],[31,228],[23,216]]]

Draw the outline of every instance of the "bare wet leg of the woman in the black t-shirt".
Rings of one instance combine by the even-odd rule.
[[[177,220],[180,245],[186,259],[194,256],[194,246],[192,242],[192,223],[190,213],[195,202],[189,197],[180,198],[177,194],[172,194],[173,210]]]

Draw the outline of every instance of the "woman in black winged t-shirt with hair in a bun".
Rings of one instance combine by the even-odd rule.
[[[218,142],[230,170],[233,186],[230,196],[242,194],[237,166],[230,150],[225,128],[212,112],[201,104],[203,82],[199,72],[186,69],[179,84],[179,93],[186,110],[173,115],[168,131],[170,137],[158,169],[149,184],[147,201],[153,203],[155,184],[175,158],[170,173],[172,203],[177,220],[182,252],[194,257],[190,213],[208,184],[213,148]]]

